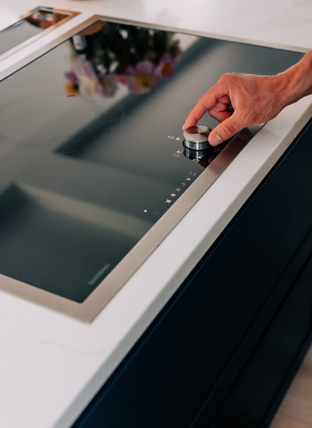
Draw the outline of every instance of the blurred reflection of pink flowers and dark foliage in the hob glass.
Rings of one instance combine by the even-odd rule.
[[[112,97],[118,85],[134,94],[155,88],[175,73],[180,54],[174,33],[98,21],[71,39],[68,95]]]

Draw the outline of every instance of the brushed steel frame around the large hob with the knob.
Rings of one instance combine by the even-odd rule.
[[[24,64],[36,59],[40,55],[50,51],[55,46],[64,42],[74,34],[79,33],[95,21],[107,20],[113,22],[122,22],[134,25],[141,25],[145,27],[153,27],[161,30],[179,31],[177,29],[169,29],[162,26],[150,26],[140,22],[127,21],[122,19],[107,18],[104,16],[95,15],[86,20],[83,24],[74,27],[72,30],[66,32],[63,36],[58,37],[45,46],[44,49],[36,51],[35,55],[27,56]],[[182,33],[194,34],[182,30]],[[8,69],[0,74],[0,80],[4,78],[3,74],[7,77],[12,72],[21,68],[21,61],[15,63],[14,67]],[[18,67],[18,68],[16,68]],[[15,69],[14,69],[15,68]],[[106,303],[116,294],[116,292],[125,284],[131,275],[142,265],[142,263],[149,257],[155,248],[163,241],[164,238],[171,232],[177,223],[184,217],[187,211],[198,201],[198,199],[205,193],[205,191],[213,184],[219,175],[226,169],[232,160],[238,155],[239,152],[247,145],[252,137],[259,131],[261,125],[255,125],[241,130],[230,143],[220,152],[213,162],[202,172],[201,175],[194,181],[193,184],[179,197],[179,199],[163,214],[162,217],[155,223],[154,226],[140,239],[140,241],[129,251],[129,253],[119,262],[119,264],[107,275],[107,277],[95,288],[94,291],[83,301],[77,303],[73,300],[68,300],[65,297],[60,297],[48,291],[34,287],[33,285],[20,282],[16,279],[9,278],[0,274],[0,288],[8,291],[9,293],[16,294],[27,300],[47,306],[56,311],[65,313],[81,321],[90,322],[93,318],[104,308]]]

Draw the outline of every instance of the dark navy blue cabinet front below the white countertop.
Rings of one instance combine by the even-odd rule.
[[[73,428],[265,427],[309,345],[312,126]]]

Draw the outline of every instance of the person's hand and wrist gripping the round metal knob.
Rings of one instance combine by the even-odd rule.
[[[209,135],[217,146],[246,126],[268,122],[287,105],[312,93],[312,51],[276,76],[226,73],[203,95],[183,125],[195,126],[206,112],[221,122]]]

